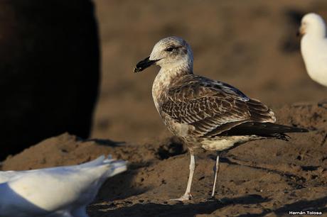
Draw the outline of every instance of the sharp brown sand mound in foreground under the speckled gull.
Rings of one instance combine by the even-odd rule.
[[[193,201],[166,201],[183,194],[188,178],[189,155],[176,138],[137,145],[63,134],[8,157],[3,169],[72,165],[103,154],[128,160],[129,170],[104,184],[89,206],[90,216],[286,216],[288,211],[326,211],[327,109],[296,104],[277,110],[277,117],[279,123],[311,131],[292,134],[289,142],[255,141],[225,153],[216,196],[220,201],[208,200],[214,164],[210,152],[198,156]]]

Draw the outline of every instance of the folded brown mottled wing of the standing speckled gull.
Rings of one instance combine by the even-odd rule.
[[[168,90],[161,112],[193,126],[191,133],[203,137],[213,137],[248,121],[276,120],[267,106],[238,89],[195,75],[181,79]]]

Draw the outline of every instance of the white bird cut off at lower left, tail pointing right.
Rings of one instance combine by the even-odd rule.
[[[86,206],[126,162],[104,156],[82,165],[0,172],[1,217],[87,217]]]

